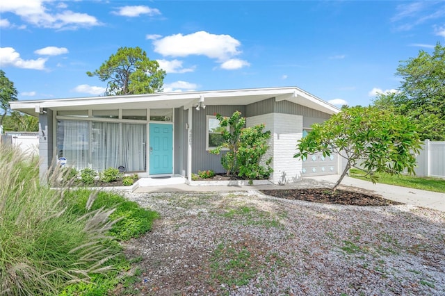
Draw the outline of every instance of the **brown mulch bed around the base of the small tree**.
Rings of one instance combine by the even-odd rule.
[[[328,188],[274,189],[260,191],[266,195],[272,195],[274,197],[298,199],[306,202],[318,202],[321,204],[344,204],[350,206],[390,206],[402,204],[376,195],[349,190],[337,190],[336,192],[332,192],[332,190]]]

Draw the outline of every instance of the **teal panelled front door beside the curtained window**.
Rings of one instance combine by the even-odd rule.
[[[173,172],[173,125],[150,125],[150,172],[149,174],[172,174]]]

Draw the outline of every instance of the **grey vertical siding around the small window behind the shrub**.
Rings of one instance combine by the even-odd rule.
[[[219,113],[231,116],[236,110],[245,114],[245,106],[207,106],[205,109],[192,110],[192,172],[198,170],[213,170],[216,173],[225,172],[221,165],[221,156],[206,151],[206,116]],[[224,152],[222,152],[224,153]]]

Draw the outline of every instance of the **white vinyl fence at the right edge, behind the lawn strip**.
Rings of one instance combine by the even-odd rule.
[[[414,171],[417,176],[445,178],[445,142],[425,140]]]

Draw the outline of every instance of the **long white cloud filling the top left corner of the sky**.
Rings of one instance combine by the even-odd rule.
[[[95,17],[86,13],[64,10],[65,6],[56,5],[55,8],[58,12],[48,13],[48,11],[51,11],[45,6],[48,3],[51,5],[51,1],[45,0],[2,1],[0,13],[14,13],[21,17],[24,22],[44,28],[75,29],[99,25]]]

